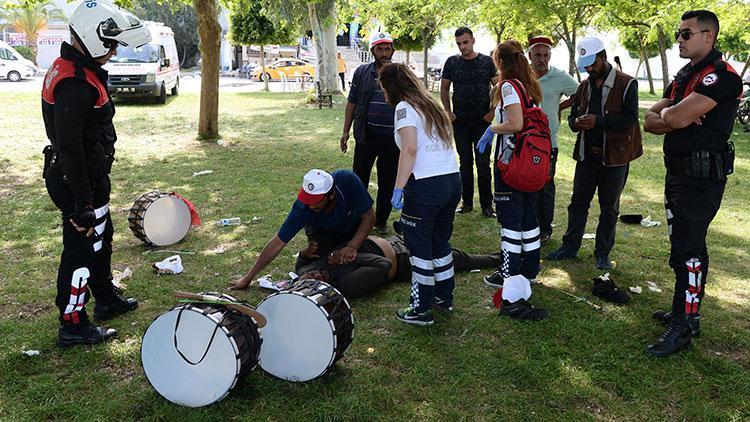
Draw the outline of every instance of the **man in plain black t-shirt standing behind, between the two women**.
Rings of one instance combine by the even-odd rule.
[[[455,35],[456,45],[461,54],[452,56],[443,66],[440,100],[453,121],[453,136],[461,163],[463,203],[458,212],[467,213],[474,208],[474,161],[476,160],[482,214],[486,217],[494,217],[490,148],[482,154],[476,152],[475,157],[474,147],[494,117],[494,113],[490,110],[490,84],[497,83],[497,71],[489,56],[474,51],[474,34],[471,29],[458,28]],[[453,84],[452,108],[451,84]]]

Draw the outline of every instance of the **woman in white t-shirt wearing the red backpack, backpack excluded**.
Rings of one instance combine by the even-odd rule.
[[[495,108],[495,124],[490,131],[498,136],[495,146],[495,206],[498,221],[502,226],[500,250],[502,264],[492,275],[484,278],[487,285],[501,287],[503,304],[500,314],[511,318],[540,320],[547,311],[533,307],[530,280],[539,273],[539,248],[541,246],[539,220],[537,218],[537,192],[522,192],[503,182],[497,161],[510,159],[515,146],[515,134],[523,129],[524,116],[521,106],[522,92],[531,101],[540,104],[542,90],[534,71],[524,56],[518,41],[508,40],[492,53],[495,66],[502,75],[500,88],[495,91],[492,104]],[[520,83],[514,86],[509,80]]]

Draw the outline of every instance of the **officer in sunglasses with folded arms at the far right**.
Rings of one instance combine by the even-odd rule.
[[[700,304],[708,281],[706,234],[733,171],[729,137],[742,80],[715,49],[718,33],[714,13],[694,10],[682,15],[675,39],[680,57],[690,63],[646,112],[644,129],[664,135],[669,266],[675,274],[671,312],[654,313],[669,328],[646,348],[653,356],[679,352],[700,334]]]

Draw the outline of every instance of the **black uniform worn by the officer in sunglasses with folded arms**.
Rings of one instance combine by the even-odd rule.
[[[734,147],[729,141],[742,92],[742,81],[722,54],[713,50],[704,60],[683,67],[664,97],[679,103],[691,92],[716,106],[691,125],[666,134],[665,204],[675,273],[672,320],[687,322],[695,333],[708,277],[706,233],[719,210],[727,175],[733,171]]]

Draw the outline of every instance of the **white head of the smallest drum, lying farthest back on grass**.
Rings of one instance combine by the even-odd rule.
[[[182,240],[190,230],[190,223],[190,209],[180,198],[170,195],[148,206],[143,216],[143,231],[154,245],[167,246]]]

